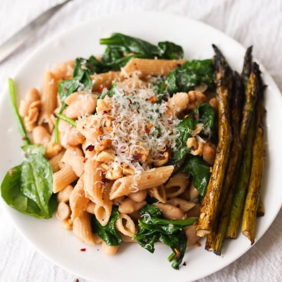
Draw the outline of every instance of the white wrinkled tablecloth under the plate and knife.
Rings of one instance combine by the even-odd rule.
[[[0,44],[37,14],[56,3],[56,0],[1,0]],[[51,18],[21,50],[0,64],[1,86],[6,86],[8,75],[12,76],[29,53],[50,36],[97,15],[139,10],[165,11],[199,19],[224,31],[245,47],[254,44],[254,56],[264,64],[282,90],[282,2],[273,0],[74,0]],[[281,281],[281,214],[247,254],[199,281]],[[0,281],[72,282],[78,278],[80,282],[86,282],[54,266],[29,246],[11,225],[1,206],[0,222]]]

